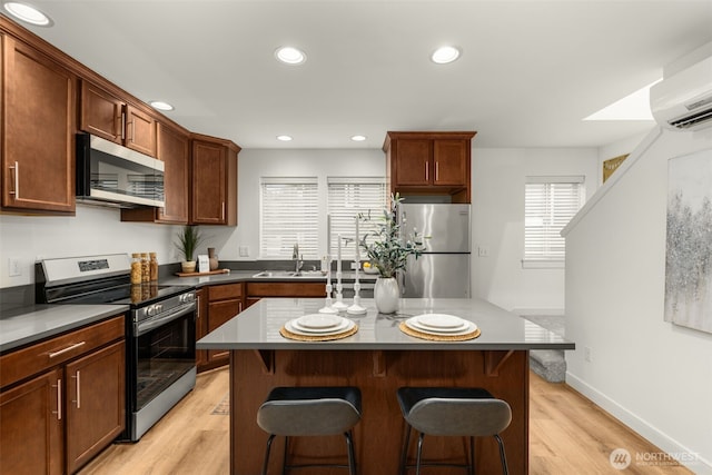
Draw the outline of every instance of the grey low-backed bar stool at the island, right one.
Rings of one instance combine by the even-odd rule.
[[[397,390],[398,404],[407,423],[406,438],[400,455],[400,474],[413,465],[406,465],[411,429],[419,433],[416,475],[421,466],[457,466],[475,473],[475,437],[493,436],[500,445],[502,472],[507,475],[507,459],[500,433],[512,422],[510,405],[495,398],[483,388],[464,387],[402,387]],[[429,463],[423,464],[423,439],[425,434],[439,436],[469,436],[469,463],[466,465]]]

